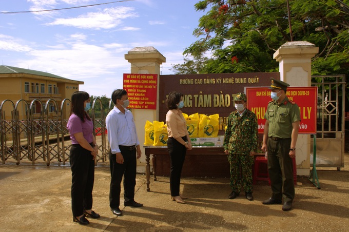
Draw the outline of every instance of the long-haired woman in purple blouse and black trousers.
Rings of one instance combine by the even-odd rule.
[[[87,92],[76,91],[71,95],[70,118],[67,128],[70,133],[71,149],[71,208],[73,221],[82,225],[90,222],[85,218],[99,218],[92,210],[92,189],[94,181],[94,159],[98,145],[93,137],[93,123],[88,111],[91,107]]]

